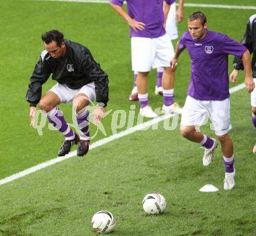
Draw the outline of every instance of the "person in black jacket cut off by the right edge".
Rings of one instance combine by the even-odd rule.
[[[243,44],[250,51],[250,53],[253,53],[251,65],[253,69],[254,84],[256,84],[256,14],[251,16],[248,20],[246,33],[244,33],[241,44]],[[230,74],[229,78],[232,83],[236,82],[238,71],[244,69],[241,58],[235,56],[233,66],[234,70]],[[251,112],[251,121],[253,121],[253,126],[256,131],[256,90],[251,92]],[[256,153],[256,144],[254,144],[253,153]]]

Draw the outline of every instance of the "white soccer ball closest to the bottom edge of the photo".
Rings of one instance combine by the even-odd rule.
[[[111,233],[116,225],[116,219],[111,212],[101,210],[94,214],[91,220],[91,226],[97,233],[107,234]]]

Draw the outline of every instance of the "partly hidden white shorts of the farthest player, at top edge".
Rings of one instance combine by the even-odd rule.
[[[170,10],[168,13],[168,17],[166,20],[166,33],[168,34],[170,40],[176,40],[178,38],[178,30],[177,30],[177,23],[176,23],[176,3],[173,2],[170,5]]]

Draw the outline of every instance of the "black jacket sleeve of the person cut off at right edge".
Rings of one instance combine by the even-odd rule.
[[[246,25],[246,33],[244,33],[243,38],[241,40],[241,44],[244,45],[249,51],[250,54],[253,52],[253,41],[252,41],[253,34],[251,32],[251,23],[250,20],[247,22]],[[243,70],[244,65],[242,59],[239,56],[235,56],[233,60],[233,66],[236,70]]]

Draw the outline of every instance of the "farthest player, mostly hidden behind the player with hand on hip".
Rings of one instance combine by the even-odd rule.
[[[163,27],[165,28],[165,31],[168,34],[170,40],[176,40],[178,38],[177,23],[180,23],[183,20],[183,15],[184,15],[183,9],[184,9],[184,0],[179,0],[179,6],[177,10],[176,10],[175,0],[170,0],[170,5],[167,4],[165,1],[163,1],[163,13],[165,15],[165,22]],[[174,50],[171,57],[173,55],[174,55]],[[138,88],[136,85],[137,74],[138,74],[138,71],[134,71],[133,90],[131,90],[131,94],[129,96],[130,101],[138,100]],[[155,95],[163,95],[162,76],[163,76],[163,67],[158,67],[157,68],[157,84],[155,85]],[[173,77],[174,76],[175,75],[173,74]]]

